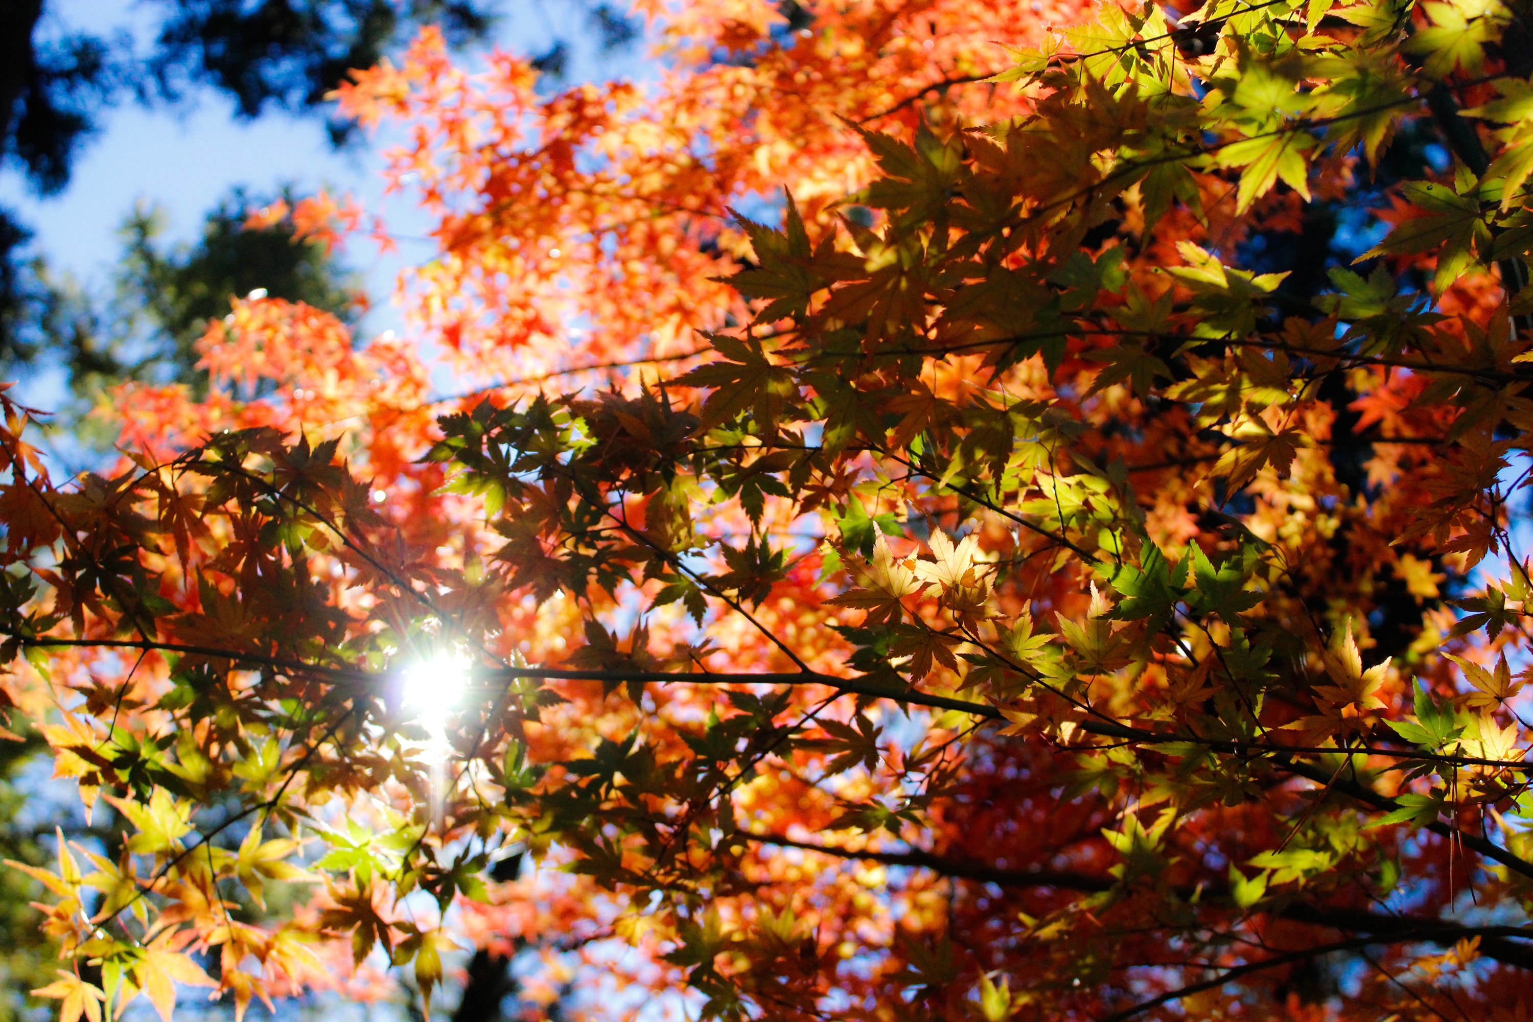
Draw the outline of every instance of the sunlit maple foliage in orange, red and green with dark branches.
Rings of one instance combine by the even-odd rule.
[[[428,32],[408,331],[235,300],[67,484],[6,401],[5,694],[132,827],[41,996],[1527,1017],[1528,11],[788,14]]]

